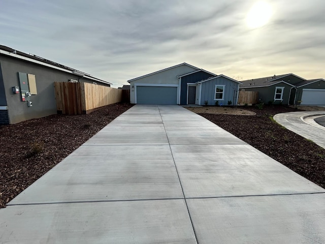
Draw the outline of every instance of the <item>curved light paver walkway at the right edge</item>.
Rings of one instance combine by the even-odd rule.
[[[317,145],[325,148],[325,127],[317,124],[314,119],[325,115],[325,111],[288,112],[274,115],[280,125],[297,133]]]

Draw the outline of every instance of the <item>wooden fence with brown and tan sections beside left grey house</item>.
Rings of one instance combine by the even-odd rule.
[[[84,82],[54,82],[59,114],[87,114],[96,108],[122,100],[120,89]]]

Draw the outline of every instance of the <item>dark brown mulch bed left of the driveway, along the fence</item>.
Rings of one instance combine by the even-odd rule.
[[[112,104],[85,115],[0,126],[0,208],[132,106]]]

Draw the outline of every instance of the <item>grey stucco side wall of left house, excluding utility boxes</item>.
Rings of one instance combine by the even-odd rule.
[[[7,56],[0,55],[0,63],[3,71],[10,124],[56,114],[54,81],[78,80],[77,75]],[[19,86],[18,72],[34,74],[36,77],[38,94],[30,97],[32,107],[28,107],[27,102],[21,101],[20,94],[13,94],[12,92],[12,86]]]

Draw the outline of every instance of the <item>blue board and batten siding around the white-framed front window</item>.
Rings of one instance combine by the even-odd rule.
[[[214,100],[215,98],[215,85],[224,85],[223,100]],[[201,105],[204,105],[205,101],[208,101],[208,105],[215,105],[216,101],[219,101],[219,105],[228,105],[228,101],[232,101],[234,104],[234,91],[235,100],[237,100],[237,90],[239,83],[229,80],[225,77],[217,77],[209,81],[201,83]],[[200,87],[198,87],[200,89]],[[236,101],[237,102],[237,101]]]

